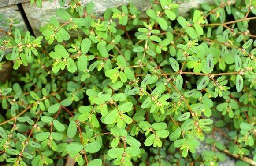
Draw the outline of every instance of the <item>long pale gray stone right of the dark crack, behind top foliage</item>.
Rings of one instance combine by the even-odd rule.
[[[88,2],[94,2],[94,12],[96,14],[102,14],[108,7],[119,7],[123,4],[128,4],[132,2],[135,4],[138,9],[144,11],[148,7],[150,7],[150,3],[147,0],[81,0],[82,5],[86,5]],[[189,2],[180,2],[179,13],[181,15],[186,15],[186,13],[194,7],[199,7],[203,2],[212,3],[213,0],[190,0]],[[36,4],[33,7],[30,6],[30,3],[23,3],[22,7],[26,13],[28,20],[30,21],[30,25],[33,28],[33,31],[36,35],[40,35],[39,28],[48,23],[49,19],[52,16],[56,16],[56,9],[58,9],[59,1],[53,0],[53,2],[49,2],[48,0],[43,1],[43,7],[38,8]],[[66,5],[67,7],[67,5]]]

